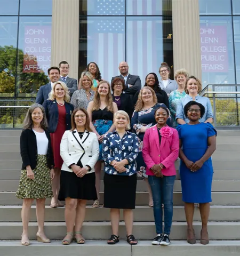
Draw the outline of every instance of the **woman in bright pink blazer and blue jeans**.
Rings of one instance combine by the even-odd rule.
[[[145,132],[142,148],[154,201],[157,236],[152,244],[169,245],[173,215],[173,185],[176,177],[174,162],[178,158],[179,137],[177,130],[166,125],[167,119],[170,118],[169,109],[161,106],[156,109],[154,116],[157,124]]]

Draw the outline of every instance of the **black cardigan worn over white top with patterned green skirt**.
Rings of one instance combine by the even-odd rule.
[[[47,166],[51,169],[54,167],[51,137],[48,131],[45,131],[49,146],[47,147]],[[20,153],[22,157],[22,170],[26,170],[26,166],[30,165],[31,170],[37,166],[37,139],[32,129],[22,130],[20,136]]]

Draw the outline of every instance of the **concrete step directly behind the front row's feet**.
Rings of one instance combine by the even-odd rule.
[[[196,238],[200,238],[202,223],[194,222]],[[45,233],[50,239],[62,239],[66,234],[65,222],[45,222]],[[224,230],[224,231],[223,231]],[[240,239],[240,222],[209,222],[209,238],[214,240],[236,240]],[[0,240],[19,240],[22,233],[22,222],[0,222]],[[29,223],[29,237],[36,239],[37,223]],[[82,233],[86,239],[106,240],[111,235],[111,223],[85,221]],[[151,221],[134,222],[133,234],[138,239],[153,239],[155,233],[155,223]],[[125,223],[119,224],[119,236],[126,237]],[[187,237],[186,222],[172,222],[171,239],[185,240]]]

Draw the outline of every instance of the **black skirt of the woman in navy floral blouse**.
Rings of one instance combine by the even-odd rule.
[[[104,175],[104,207],[135,209],[137,174],[131,176]]]

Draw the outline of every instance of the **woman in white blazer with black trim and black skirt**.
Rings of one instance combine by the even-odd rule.
[[[71,130],[63,134],[60,144],[63,165],[59,200],[66,201],[67,226],[67,235],[62,244],[70,244],[74,238],[78,244],[84,244],[81,229],[86,201],[97,199],[94,165],[99,157],[99,144],[97,135],[90,129],[90,119],[85,109],[73,111],[71,127]]]

